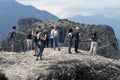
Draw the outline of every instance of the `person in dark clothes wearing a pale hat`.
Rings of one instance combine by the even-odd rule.
[[[79,53],[79,51],[78,51],[79,41],[80,41],[79,36],[80,36],[79,27],[76,27],[75,30],[73,31],[75,52],[76,53]]]

